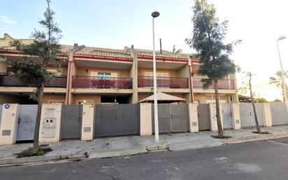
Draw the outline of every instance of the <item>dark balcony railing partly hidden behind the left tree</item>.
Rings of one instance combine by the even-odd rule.
[[[66,88],[66,83],[66,76],[54,76],[52,81],[45,83],[45,87]],[[9,76],[8,74],[0,74],[0,86],[29,87],[28,85],[22,84],[15,76]]]

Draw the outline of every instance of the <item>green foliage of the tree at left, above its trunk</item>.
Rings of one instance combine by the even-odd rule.
[[[60,66],[60,60],[57,57],[61,53],[59,39],[61,39],[61,30],[54,21],[54,11],[50,8],[50,0],[47,0],[48,7],[44,12],[44,19],[39,23],[43,27],[43,31],[34,29],[32,36],[33,43],[23,44],[20,41],[13,41],[11,46],[15,46],[17,50],[29,55],[23,57],[23,60],[11,62],[13,69],[17,69],[16,77],[21,83],[36,87],[36,91],[31,97],[38,99],[39,91],[45,82],[52,80],[50,74],[45,67],[48,64]]]

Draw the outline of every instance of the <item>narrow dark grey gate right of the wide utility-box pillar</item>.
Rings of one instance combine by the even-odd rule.
[[[60,131],[62,139],[80,139],[82,109],[82,105],[62,105]]]

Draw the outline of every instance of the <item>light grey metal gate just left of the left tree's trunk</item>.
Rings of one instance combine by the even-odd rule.
[[[16,141],[34,139],[38,105],[19,105]]]

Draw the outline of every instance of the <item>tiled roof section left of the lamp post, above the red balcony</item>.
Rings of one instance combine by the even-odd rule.
[[[75,55],[92,55],[101,57],[116,57],[116,58],[132,58],[131,55],[127,54],[124,50],[115,50],[108,48],[92,48],[85,47],[78,50]]]

